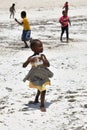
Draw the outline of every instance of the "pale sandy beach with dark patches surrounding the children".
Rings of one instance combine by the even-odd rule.
[[[21,20],[21,10],[27,11],[31,37],[43,42],[54,73],[45,113],[39,103],[29,104],[36,89],[23,82],[31,66],[22,64],[33,52],[22,48],[22,27],[9,18],[13,2],[0,5],[0,130],[87,130],[87,1],[69,1],[70,40],[61,43],[58,20],[64,0],[15,0],[15,17]]]

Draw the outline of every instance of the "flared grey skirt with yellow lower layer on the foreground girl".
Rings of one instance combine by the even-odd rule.
[[[46,89],[46,85],[51,84],[50,78],[52,77],[53,73],[47,67],[39,65],[37,67],[33,66],[23,81],[30,81],[30,88],[37,88],[39,91],[44,91]]]

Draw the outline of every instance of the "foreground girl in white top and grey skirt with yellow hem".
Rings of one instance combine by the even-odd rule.
[[[41,105],[40,110],[42,112],[46,111],[44,102],[45,102],[45,94],[46,94],[46,85],[50,85],[50,79],[53,76],[53,73],[48,69],[50,66],[49,61],[46,56],[42,54],[43,52],[43,44],[38,39],[30,40],[30,48],[34,52],[32,56],[30,56],[27,61],[23,64],[23,67],[26,67],[29,63],[31,63],[31,69],[29,73],[24,78],[24,82],[26,80],[29,81],[30,88],[37,88],[37,94],[34,101],[30,103],[36,104],[39,102],[38,98],[40,97]]]

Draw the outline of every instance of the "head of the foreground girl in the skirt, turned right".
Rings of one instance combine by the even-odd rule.
[[[38,39],[30,39],[30,48],[35,54],[43,52],[43,44]]]

